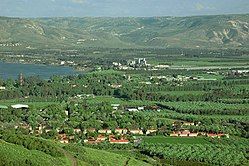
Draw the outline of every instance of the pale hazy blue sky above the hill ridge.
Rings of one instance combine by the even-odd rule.
[[[249,0],[0,0],[0,16],[188,16],[249,13]]]

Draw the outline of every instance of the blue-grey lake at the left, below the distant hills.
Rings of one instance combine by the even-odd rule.
[[[18,75],[23,73],[27,76],[40,76],[44,79],[49,79],[53,75],[76,75],[82,72],[78,72],[71,67],[65,66],[48,66],[40,64],[19,64],[19,63],[7,63],[0,61],[0,78],[8,79],[18,78]]]

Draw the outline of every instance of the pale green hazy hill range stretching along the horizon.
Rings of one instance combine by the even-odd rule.
[[[0,47],[248,48],[249,14],[148,18],[0,17]]]

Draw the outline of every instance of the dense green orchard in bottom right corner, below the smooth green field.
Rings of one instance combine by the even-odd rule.
[[[213,165],[246,165],[246,147],[224,146],[218,144],[148,144],[139,148],[144,154],[159,156],[165,159],[198,161]],[[243,151],[241,151],[243,150]]]

